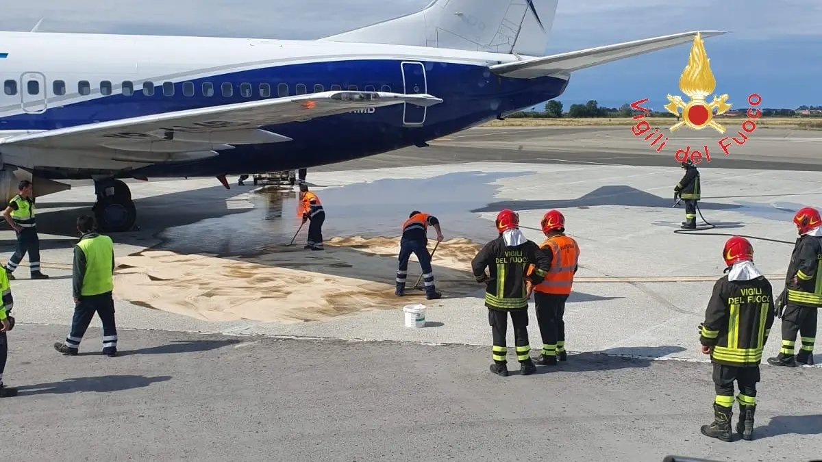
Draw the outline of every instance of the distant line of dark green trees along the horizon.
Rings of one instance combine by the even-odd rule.
[[[644,107],[647,107],[645,105]],[[552,99],[545,104],[542,111],[521,111],[512,113],[508,118],[628,118],[634,117],[640,111],[635,111],[629,103],[622,104],[619,108],[601,107],[595,99],[589,100],[585,104],[571,104],[567,111],[563,112],[562,102]],[[732,113],[744,115],[748,108],[732,109]],[[762,117],[822,117],[822,106],[800,106],[797,109],[760,109]],[[677,118],[677,116],[667,111],[651,111],[653,117]],[[731,115],[731,114],[728,114]]]

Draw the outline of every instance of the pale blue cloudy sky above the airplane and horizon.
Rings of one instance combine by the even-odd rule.
[[[2,30],[315,39],[422,9],[429,0],[38,0],[7,2]],[[120,4],[118,4],[120,3]],[[735,106],[751,92],[768,107],[822,104],[820,0],[560,0],[547,54],[667,35],[727,30],[705,40],[716,92]],[[307,6],[310,5],[310,6]],[[575,72],[566,106],[597,99],[618,106],[677,93],[688,46]]]

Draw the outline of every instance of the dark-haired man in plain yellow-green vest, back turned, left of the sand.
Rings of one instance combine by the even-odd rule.
[[[117,355],[117,324],[114,321],[114,244],[109,236],[95,231],[95,218],[84,215],[77,219],[80,241],[74,246],[72,293],[74,318],[72,330],[64,343],[54,344],[58,352],[76,356],[89,328],[91,318],[99,316],[103,323],[103,354]]]

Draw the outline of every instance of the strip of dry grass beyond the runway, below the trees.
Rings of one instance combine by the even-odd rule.
[[[673,125],[677,122],[675,118],[645,118],[649,123],[656,126]],[[723,125],[738,125],[745,121],[745,118],[717,118],[718,123]],[[653,121],[653,122],[652,122]],[[483,125],[483,127],[627,127],[634,125],[637,121],[632,118],[508,118],[506,120],[494,120]],[[757,127],[764,128],[792,128],[797,130],[822,130],[822,118],[797,118],[797,117],[770,117],[756,120]]]

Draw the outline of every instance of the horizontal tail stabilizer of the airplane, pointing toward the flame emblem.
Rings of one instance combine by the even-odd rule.
[[[694,40],[697,34],[703,38],[723,35],[722,30],[706,30],[704,32],[682,32],[681,34],[663,35],[651,39],[634,40],[622,44],[606,45],[593,49],[584,49],[568,53],[554,54],[542,58],[529,58],[515,62],[495,64],[488,69],[500,76],[518,79],[533,79],[550,76],[552,74],[567,74],[579,71],[586,67],[598,66],[606,62],[632,58],[640,54],[651,53],[660,49],[667,49]]]

